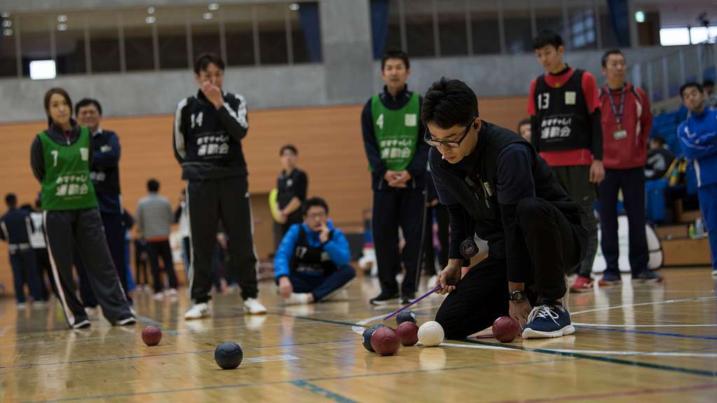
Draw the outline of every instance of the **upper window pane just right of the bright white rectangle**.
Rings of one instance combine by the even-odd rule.
[[[85,14],[62,13],[55,16],[54,47],[57,74],[87,72]]]

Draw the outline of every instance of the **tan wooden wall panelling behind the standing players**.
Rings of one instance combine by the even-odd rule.
[[[525,97],[480,100],[481,117],[515,130],[524,117]],[[323,196],[331,216],[344,228],[361,227],[361,212],[371,207],[368,163],[360,125],[361,105],[325,108],[250,110],[250,131],[242,141],[250,172],[255,209],[257,251],[272,250],[267,222],[267,194],[280,171],[279,148],[292,143],[299,149],[299,166],[308,173],[310,196]],[[122,145],[120,181],[125,208],[133,213],[146,194],[146,181],[156,178],[160,192],[176,206],[184,186],[172,151],[171,115],[105,118],[103,128],[116,131]],[[39,184],[29,167],[29,147],[44,122],[0,125],[0,194],[13,191],[20,203],[33,201]],[[4,207],[0,209],[3,211]],[[6,244],[0,243],[0,283],[12,293]]]

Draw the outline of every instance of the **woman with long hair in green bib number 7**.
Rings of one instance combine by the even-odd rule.
[[[42,208],[52,278],[70,328],[90,326],[75,295],[73,251],[80,253],[90,285],[113,325],[136,322],[105,240],[90,179],[92,136],[72,119],[72,101],[62,88],[45,93],[49,127],[32,142],[32,172],[42,185]]]

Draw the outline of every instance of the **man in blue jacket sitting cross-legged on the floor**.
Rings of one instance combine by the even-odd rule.
[[[274,276],[287,305],[346,299],[356,276],[348,265],[351,252],[341,229],[328,219],[328,205],[319,197],[304,202],[302,224],[284,235],[274,259]]]

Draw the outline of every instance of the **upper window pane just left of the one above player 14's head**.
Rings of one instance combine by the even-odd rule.
[[[152,16],[148,16],[157,26],[160,69],[191,68],[186,42],[188,17],[185,10],[179,9],[156,9]]]

